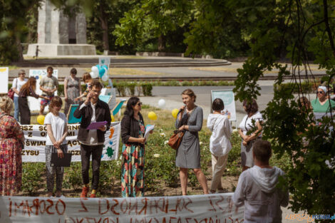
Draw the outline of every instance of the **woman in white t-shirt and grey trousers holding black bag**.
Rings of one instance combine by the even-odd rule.
[[[56,197],[62,197],[61,189],[63,185],[63,167],[51,167],[51,154],[58,153],[58,157],[63,158],[64,152],[68,152],[66,135],[68,135],[67,119],[64,113],[60,113],[62,100],[56,96],[51,99],[49,106],[50,113],[46,115],[44,125],[46,125],[46,187],[48,197],[53,196],[54,180],[56,175]]]

